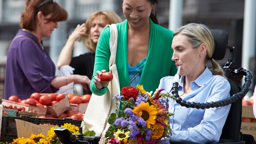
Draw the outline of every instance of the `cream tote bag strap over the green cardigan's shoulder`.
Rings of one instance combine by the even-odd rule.
[[[110,58],[109,58],[109,67],[114,65],[116,62],[116,51],[117,51],[117,39],[118,31],[116,24],[108,24],[106,27],[110,27],[110,37],[109,37],[109,49],[110,49]]]

